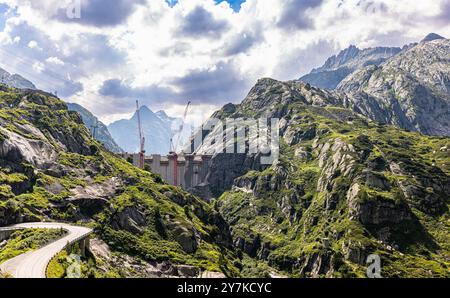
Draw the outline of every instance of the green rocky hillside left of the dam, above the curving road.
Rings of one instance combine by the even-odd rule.
[[[217,212],[105,150],[50,94],[0,87],[0,181],[0,226],[81,223],[119,255],[238,275]]]

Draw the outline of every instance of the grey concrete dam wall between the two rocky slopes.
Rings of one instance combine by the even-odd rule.
[[[123,153],[121,156],[135,166],[139,166],[139,154]],[[152,173],[160,175],[166,183],[188,190],[205,182],[211,159],[212,155],[153,154],[145,156],[144,165]]]

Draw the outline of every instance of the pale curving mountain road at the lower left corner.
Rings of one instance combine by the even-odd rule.
[[[89,236],[92,229],[63,223],[25,223],[10,226],[19,229],[64,229],[67,234],[38,250],[30,251],[0,264],[0,271],[14,278],[46,278],[46,269],[51,259],[68,243],[77,242]]]

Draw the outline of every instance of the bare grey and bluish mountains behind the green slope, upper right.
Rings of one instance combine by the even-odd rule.
[[[449,51],[434,33],[403,49],[351,46],[300,80],[333,89],[343,106],[378,122],[449,136]]]

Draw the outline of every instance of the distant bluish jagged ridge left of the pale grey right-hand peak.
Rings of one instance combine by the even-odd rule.
[[[387,47],[360,50],[352,45],[329,58],[322,67],[312,70],[300,80],[319,88],[333,90],[355,70],[369,65],[380,65],[401,50]]]

